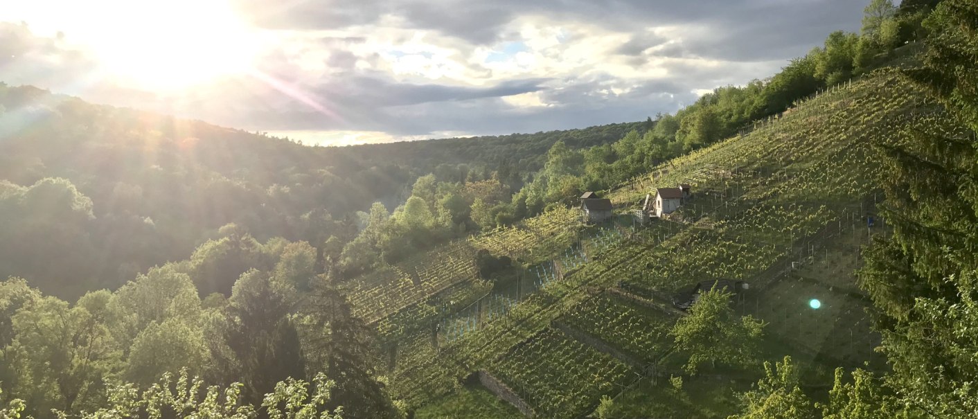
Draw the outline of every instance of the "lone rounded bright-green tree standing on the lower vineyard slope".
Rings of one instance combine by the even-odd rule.
[[[721,290],[701,293],[689,315],[676,321],[670,332],[676,349],[689,353],[685,368],[690,374],[704,362],[749,365],[756,358],[764,322],[737,317],[730,304],[732,296]]]

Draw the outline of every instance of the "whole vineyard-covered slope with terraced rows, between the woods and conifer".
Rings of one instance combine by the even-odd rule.
[[[769,322],[764,358],[792,355],[807,385],[830,383],[839,365],[875,359],[879,368],[872,353],[879,338],[868,328],[853,270],[867,233],[887,231],[866,228],[866,214],[882,199],[873,144],[889,141],[895,121],[927,110],[914,92],[894,73],[877,72],[747,135],[653,168],[611,193],[622,212],[652,187],[689,183],[695,199],[648,227],[633,230],[627,214],[587,227],[572,210],[557,210],[406,262],[390,276],[355,281],[351,302],[385,337],[394,396],[422,412],[430,403],[437,411],[481,402],[466,393],[440,397],[487,371],[544,417],[587,414],[601,395],[621,394],[616,406],[631,412],[622,417],[690,400],[668,388],[646,400],[645,387],[680,374],[681,355],[666,336],[679,315],[672,296],[712,278],[750,284],[737,312]],[[478,249],[513,258],[514,271],[485,278],[495,287],[485,284],[471,261]],[[812,298],[822,301],[819,310],[807,306]],[[757,379],[756,372],[729,374],[738,389]],[[696,380],[690,389],[703,387]],[[730,402],[702,417],[733,413],[732,394],[725,395]]]

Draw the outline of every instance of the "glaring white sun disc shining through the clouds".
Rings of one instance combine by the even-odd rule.
[[[105,1],[105,0],[103,0]],[[92,11],[104,29],[91,46],[112,76],[152,89],[193,87],[247,72],[258,51],[257,31],[224,0],[111,1]]]

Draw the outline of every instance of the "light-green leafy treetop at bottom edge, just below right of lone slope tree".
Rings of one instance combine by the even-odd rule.
[[[730,419],[815,419],[812,400],[798,387],[798,372],[790,356],[774,368],[764,362],[764,378],[755,388],[740,395],[743,411]]]

